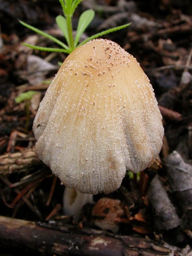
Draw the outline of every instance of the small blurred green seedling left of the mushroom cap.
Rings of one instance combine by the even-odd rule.
[[[26,124],[25,129],[28,130],[29,119],[30,119],[30,100],[33,95],[37,94],[36,91],[27,91],[26,93],[19,93],[19,95],[15,98],[16,103],[24,102],[26,108]]]

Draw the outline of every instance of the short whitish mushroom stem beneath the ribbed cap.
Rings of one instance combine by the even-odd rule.
[[[75,221],[79,221],[81,209],[85,204],[94,204],[92,194],[82,194],[70,187],[65,187],[63,194],[63,212],[65,215],[73,215]]]

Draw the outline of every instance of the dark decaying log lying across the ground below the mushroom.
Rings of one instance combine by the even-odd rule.
[[[41,252],[42,255],[157,256],[180,255],[149,238],[116,236],[100,230],[35,223],[0,216],[0,246]],[[177,249],[175,249],[177,248]],[[177,250],[177,251],[176,251]]]

